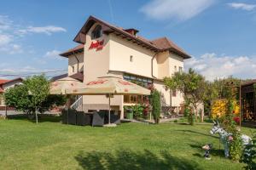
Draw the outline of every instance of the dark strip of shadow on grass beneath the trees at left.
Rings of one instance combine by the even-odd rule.
[[[28,122],[36,122],[35,117],[29,117],[27,114],[17,114],[7,116],[9,120],[24,120]],[[61,116],[38,114],[38,122],[61,122]]]

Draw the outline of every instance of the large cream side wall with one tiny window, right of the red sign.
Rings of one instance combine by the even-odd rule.
[[[113,34],[109,35],[109,39],[109,70],[126,71],[143,77],[152,77],[151,59],[154,52]],[[131,56],[132,61],[130,61]]]

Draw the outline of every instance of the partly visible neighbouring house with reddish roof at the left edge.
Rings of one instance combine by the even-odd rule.
[[[21,84],[22,78],[15,78],[13,80],[0,79],[0,106],[4,105],[3,94],[6,89],[15,87],[15,85]]]

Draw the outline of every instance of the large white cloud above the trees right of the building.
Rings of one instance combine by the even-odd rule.
[[[200,58],[185,60],[185,68],[194,68],[207,80],[229,76],[239,78],[256,77],[256,59],[248,56],[218,56],[217,54],[203,54]]]

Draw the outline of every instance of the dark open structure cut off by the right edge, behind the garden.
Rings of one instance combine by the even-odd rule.
[[[241,113],[243,120],[256,121],[256,79],[241,84]]]

